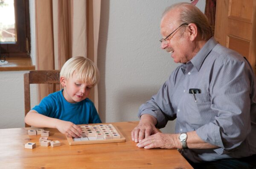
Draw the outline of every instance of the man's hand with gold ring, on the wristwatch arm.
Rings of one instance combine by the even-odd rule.
[[[177,141],[177,134],[165,134],[158,132],[154,135],[148,136],[142,141],[140,141],[137,146],[139,148],[152,149],[152,148],[162,148],[162,149],[177,149],[181,148],[180,143]]]

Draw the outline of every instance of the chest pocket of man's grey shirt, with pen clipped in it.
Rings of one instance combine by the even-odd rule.
[[[195,101],[196,99],[196,101]],[[184,120],[195,130],[212,121],[209,93],[187,93],[184,102]]]

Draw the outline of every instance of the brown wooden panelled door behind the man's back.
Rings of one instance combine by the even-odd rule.
[[[245,56],[256,73],[256,0],[217,0],[215,39]]]

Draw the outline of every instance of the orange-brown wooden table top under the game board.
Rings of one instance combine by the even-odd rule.
[[[176,149],[143,149],[131,141],[138,121],[112,123],[126,141],[120,143],[68,145],[65,135],[50,130],[49,140],[61,146],[39,145],[41,135],[28,135],[31,128],[0,129],[0,169],[192,169]],[[35,149],[24,144],[35,142]]]

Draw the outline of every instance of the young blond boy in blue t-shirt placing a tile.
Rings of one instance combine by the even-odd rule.
[[[76,124],[102,123],[92,101],[87,97],[99,80],[99,70],[87,58],[69,59],[61,68],[63,90],[51,93],[25,117],[25,123],[35,127],[57,128],[61,133],[79,137]]]

